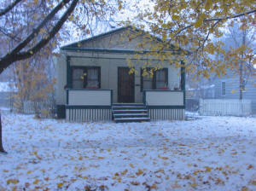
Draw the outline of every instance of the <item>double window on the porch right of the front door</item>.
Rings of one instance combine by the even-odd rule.
[[[147,75],[143,76],[143,72]],[[167,90],[168,69],[163,68],[154,71],[154,68],[141,69],[141,91],[143,90]]]

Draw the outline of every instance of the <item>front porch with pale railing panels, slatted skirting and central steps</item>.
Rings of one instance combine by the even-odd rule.
[[[129,106],[129,103],[113,103],[113,90],[69,89],[66,119],[76,122],[112,119],[116,122],[182,120],[184,97],[183,90],[143,90],[143,102],[131,103]],[[117,107],[121,109],[117,110]]]

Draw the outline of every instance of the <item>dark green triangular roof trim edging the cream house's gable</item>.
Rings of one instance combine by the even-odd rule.
[[[104,32],[102,34],[96,35],[94,37],[91,38],[87,38],[75,43],[69,43],[65,46],[61,47],[61,50],[71,50],[71,51],[82,51],[82,52],[102,52],[102,53],[126,53],[126,54],[145,54],[148,52],[153,52],[153,51],[149,51],[149,50],[131,50],[131,49],[102,49],[102,48],[82,48],[79,47],[79,44],[84,44],[84,43],[89,43],[92,41],[96,41],[99,40],[101,38],[107,37],[108,35],[114,34],[114,33],[118,33],[118,32],[122,32],[128,29],[132,29],[132,31],[134,32],[143,32],[143,33],[148,33],[148,32],[144,32],[141,29],[132,27],[132,26],[124,26],[124,27],[120,27],[118,29],[112,30],[110,32]],[[150,34],[151,37],[153,37],[154,39],[156,39],[158,42],[163,42],[160,38],[153,36],[152,34]],[[165,51],[161,51],[161,52],[170,52],[172,51],[173,55],[178,55],[180,54],[181,51],[184,51],[186,53],[188,53],[187,50],[183,50],[181,48],[177,48],[175,49],[175,46],[171,44],[171,49],[170,50],[165,50]],[[156,52],[156,51],[154,51]]]

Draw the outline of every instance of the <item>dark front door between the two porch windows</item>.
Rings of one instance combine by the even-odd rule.
[[[129,74],[129,67],[118,68],[118,101],[119,103],[134,102],[134,73]]]

